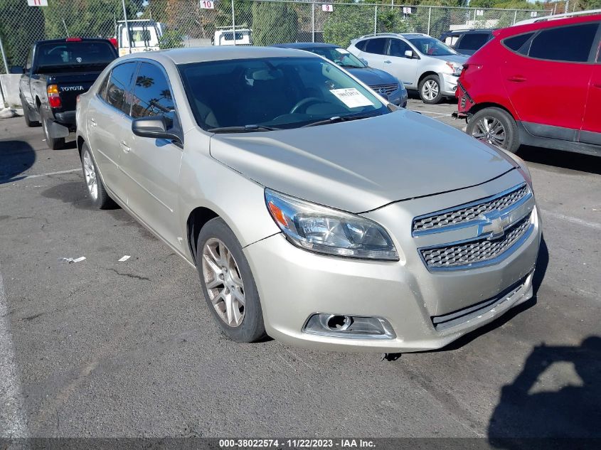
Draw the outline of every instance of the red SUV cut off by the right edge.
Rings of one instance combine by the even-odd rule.
[[[601,156],[601,15],[494,31],[464,65],[455,96],[467,133]]]

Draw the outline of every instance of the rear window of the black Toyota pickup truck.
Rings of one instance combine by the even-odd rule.
[[[110,42],[73,41],[38,45],[38,73],[102,70],[117,58]]]

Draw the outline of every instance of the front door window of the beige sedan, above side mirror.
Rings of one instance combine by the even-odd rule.
[[[132,117],[151,117],[159,114],[169,119],[175,117],[171,87],[159,66],[142,63],[134,86]]]

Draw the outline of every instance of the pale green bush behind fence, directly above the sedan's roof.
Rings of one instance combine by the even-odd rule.
[[[293,42],[297,38],[297,11],[282,2],[255,2],[252,4],[252,42],[272,45]]]

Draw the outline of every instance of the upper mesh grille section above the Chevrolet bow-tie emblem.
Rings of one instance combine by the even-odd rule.
[[[413,220],[413,235],[418,235],[422,232],[435,232],[439,228],[467,223],[477,219],[481,214],[490,213],[494,210],[502,211],[517,203],[528,195],[528,193],[530,193],[530,188],[528,188],[527,184],[523,184],[513,191],[489,198],[489,200],[484,199],[467,205],[459,205],[452,208],[452,210],[445,210],[440,213],[415,218]]]

